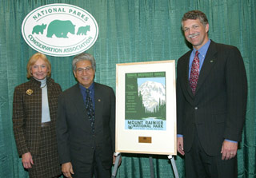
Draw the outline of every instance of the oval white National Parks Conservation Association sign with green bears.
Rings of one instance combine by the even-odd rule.
[[[69,4],[40,6],[26,15],[22,36],[31,48],[50,56],[72,56],[90,49],[98,24],[86,10]]]

